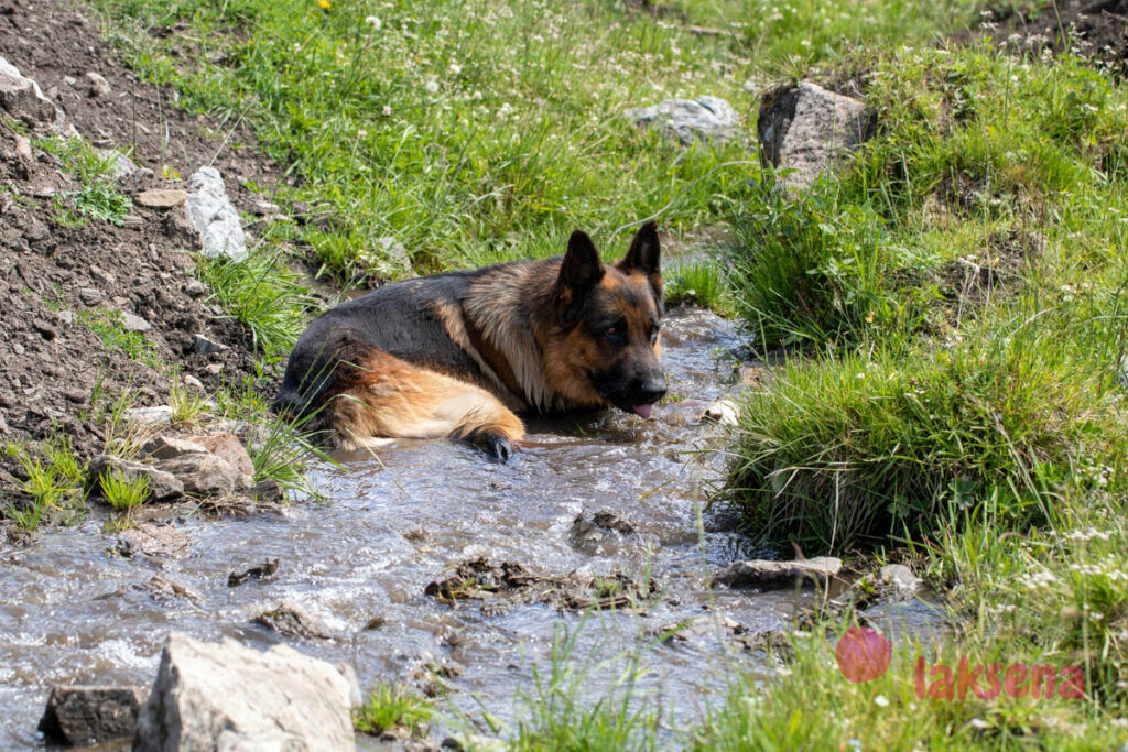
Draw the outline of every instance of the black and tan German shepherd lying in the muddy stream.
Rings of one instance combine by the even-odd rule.
[[[519,414],[649,418],[666,393],[659,256],[650,222],[610,266],[576,230],[563,257],[386,285],[309,325],[276,407],[344,449],[450,436],[501,461]]]

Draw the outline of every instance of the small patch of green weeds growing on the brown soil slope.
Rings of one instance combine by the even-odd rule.
[[[111,178],[117,153],[98,152],[81,136],[49,136],[37,145],[59,157],[63,169],[79,184],[77,191],[55,196],[55,221],[74,227],[86,219],[121,225],[133,207],[129,196]]]

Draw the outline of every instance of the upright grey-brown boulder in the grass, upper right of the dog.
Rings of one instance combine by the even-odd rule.
[[[764,95],[756,126],[765,167],[793,170],[788,189],[807,188],[870,138],[865,105],[813,83],[784,86]]]

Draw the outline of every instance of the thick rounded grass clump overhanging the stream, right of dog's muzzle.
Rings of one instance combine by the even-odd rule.
[[[758,532],[819,550],[932,536],[988,502],[1011,527],[1045,523],[1120,414],[1108,379],[1056,333],[788,363],[742,410],[730,493]]]

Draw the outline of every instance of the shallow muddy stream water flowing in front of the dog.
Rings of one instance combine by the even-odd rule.
[[[281,603],[298,605],[334,635],[299,649],[356,667],[361,685],[411,680],[430,664],[453,666],[450,702],[503,722],[522,713],[535,667],[549,664],[554,630],[583,614],[520,604],[483,613],[424,594],[450,566],[479,556],[550,575],[573,570],[652,577],[659,596],[644,614],[590,616],[572,657],[591,665],[583,692],[619,675],[601,658],[633,655],[646,670],[653,701],[693,723],[731,672],[763,656],[735,646],[723,614],[751,631],[786,626],[808,595],[755,594],[706,581],[756,551],[720,512],[702,512],[724,465],[717,428],[697,416],[735,389],[741,338],[730,322],[696,309],[671,311],[664,364],[671,400],[642,422],[620,413],[538,422],[529,444],[505,466],[449,442],[400,441],[376,457],[340,458],[315,479],[323,504],[241,520],[188,516],[177,522],[188,546],[161,558],[114,555],[105,517],[44,534],[0,563],[0,747],[35,742],[52,683],[148,684],[169,630],[267,646],[284,638],[252,623]],[[571,536],[579,515],[615,512],[626,534]],[[267,580],[228,587],[228,574],[279,558]],[[161,572],[200,602],[156,600],[139,587]],[[679,620],[712,614],[689,639],[655,645],[651,636]],[[382,626],[365,628],[373,618]],[[729,622],[731,627],[731,621]],[[475,700],[476,698],[476,700]]]

